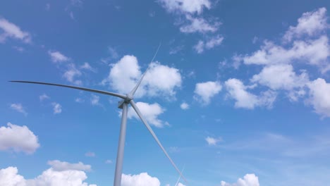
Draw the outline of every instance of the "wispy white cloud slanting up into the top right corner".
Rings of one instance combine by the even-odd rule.
[[[289,27],[283,39],[286,42],[290,42],[294,37],[317,35],[329,27],[326,20],[326,8],[319,8],[314,12],[303,13],[298,19],[298,25]]]

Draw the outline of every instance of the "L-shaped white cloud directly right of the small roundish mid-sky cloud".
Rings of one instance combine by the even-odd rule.
[[[255,106],[267,106],[268,108],[271,108],[276,99],[276,93],[270,90],[262,92],[259,97],[247,92],[246,89],[248,87],[235,78],[227,80],[225,85],[228,90],[228,96],[236,99],[236,108],[254,109]]]

